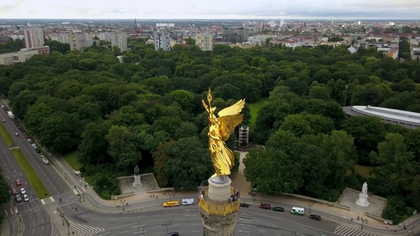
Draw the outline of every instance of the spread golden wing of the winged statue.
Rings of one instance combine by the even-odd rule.
[[[235,131],[235,128],[242,123],[243,114],[240,112],[245,106],[245,100],[239,100],[230,107],[222,109],[219,113],[220,134],[223,141],[229,139],[229,136]]]

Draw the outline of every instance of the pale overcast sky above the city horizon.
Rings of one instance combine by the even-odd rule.
[[[420,0],[0,0],[0,18],[419,19]]]

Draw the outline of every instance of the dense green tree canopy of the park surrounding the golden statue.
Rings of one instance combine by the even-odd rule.
[[[80,53],[54,43],[51,55],[0,67],[0,93],[16,117],[51,151],[77,149],[103,197],[118,193],[115,176],[135,165],[175,188],[195,188],[213,172],[201,105],[211,87],[217,111],[268,97],[250,134],[266,149],[244,161],[246,178],[262,193],[332,200],[367,181],[355,171],[360,164],[373,166],[369,191],[389,198],[385,218],[399,222],[420,207],[420,131],[345,119],[342,111],[342,104],[370,104],[420,112],[418,61],[392,60],[375,48],[350,54],[344,45],[215,45],[212,52],[174,45],[169,53],[142,39],[130,43],[125,63],[97,45]],[[248,105],[243,113],[247,125]]]

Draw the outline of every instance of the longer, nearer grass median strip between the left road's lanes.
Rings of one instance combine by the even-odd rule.
[[[19,166],[21,166],[23,173],[25,173],[26,177],[31,183],[31,186],[38,195],[38,198],[43,199],[51,197],[51,193],[48,192],[46,186],[43,185],[41,178],[39,178],[39,176],[33,170],[31,164],[29,163],[28,159],[26,159],[26,156],[23,155],[21,149],[13,149],[11,152],[19,162]]]

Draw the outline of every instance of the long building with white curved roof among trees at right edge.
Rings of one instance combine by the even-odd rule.
[[[353,106],[343,107],[346,114],[356,117],[359,115],[379,117],[384,122],[399,124],[409,129],[420,127],[420,113],[407,112],[400,109],[389,109],[384,107]]]

